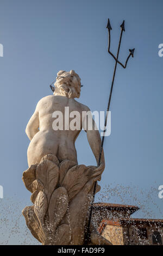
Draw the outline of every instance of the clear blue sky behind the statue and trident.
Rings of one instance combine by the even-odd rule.
[[[100,182],[102,193],[96,200],[142,202],[144,210],[136,217],[149,217],[152,212],[150,217],[162,218],[163,199],[158,198],[158,187],[163,185],[163,57],[158,56],[158,45],[163,43],[163,2],[1,0],[0,3],[0,43],[4,46],[4,57],[0,57],[0,185],[4,188],[4,199],[0,200],[1,207],[5,205],[4,215],[12,208],[11,202],[21,201],[20,210],[30,205],[30,193],[21,180],[23,170],[28,167],[29,139],[24,131],[37,101],[52,93],[49,84],[57,72],[74,69],[84,84],[79,101],[91,111],[106,109],[114,69],[114,60],[107,53],[105,27],[109,17],[111,51],[117,51],[119,26],[125,19],[120,60],[124,62],[128,49],[134,47],[135,57],[129,60],[126,70],[117,68],[111,101],[111,135],[104,143],[106,168]],[[76,147],[79,163],[96,164],[84,132],[78,137]],[[19,208],[17,216],[21,216]],[[25,227],[23,217],[20,223]],[[2,230],[6,232],[5,228]],[[3,239],[1,233],[2,243]],[[9,243],[18,243],[16,239],[11,238]]]

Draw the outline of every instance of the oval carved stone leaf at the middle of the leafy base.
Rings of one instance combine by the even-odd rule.
[[[67,207],[67,191],[64,187],[59,187],[53,192],[48,208],[49,223],[53,225],[53,230],[55,230],[66,214]]]

